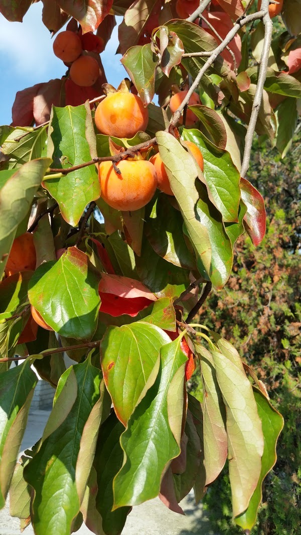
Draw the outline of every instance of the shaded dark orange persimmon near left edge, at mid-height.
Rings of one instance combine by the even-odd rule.
[[[5,275],[9,277],[19,271],[35,270],[36,254],[31,232],[25,232],[13,240],[12,248],[7,258]]]

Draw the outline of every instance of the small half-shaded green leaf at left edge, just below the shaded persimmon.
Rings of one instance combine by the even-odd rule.
[[[22,273],[14,273],[0,282],[0,318],[2,312],[11,315],[16,312],[27,296],[28,282],[31,277],[32,271],[23,271]]]

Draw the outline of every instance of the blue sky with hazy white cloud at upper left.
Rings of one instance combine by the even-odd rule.
[[[11,123],[11,108],[17,91],[35,83],[61,78],[63,62],[52,50],[50,33],[42,22],[42,2],[33,4],[23,22],[8,22],[0,14],[0,124]],[[114,28],[106,50],[101,54],[108,82],[118,86],[127,75],[115,56],[118,46]]]

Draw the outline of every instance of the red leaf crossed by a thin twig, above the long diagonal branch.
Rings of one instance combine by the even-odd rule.
[[[204,11],[203,17],[205,17],[206,20],[210,22],[210,24],[214,27],[214,29],[222,37],[222,39],[224,39],[225,36],[229,33],[229,31],[233,28],[233,22],[227,13],[219,11],[208,13],[208,11]],[[221,42],[221,40],[216,37],[212,29],[207,27],[206,23],[204,23],[202,27],[206,30],[206,32],[215,37],[218,43]],[[242,61],[242,41],[238,34],[236,34],[234,39],[230,41],[228,47],[234,53],[236,59],[236,66],[238,67],[238,65]],[[225,59],[226,62],[229,63],[231,68],[234,68],[233,58],[228,50],[224,49],[221,53],[221,56]]]

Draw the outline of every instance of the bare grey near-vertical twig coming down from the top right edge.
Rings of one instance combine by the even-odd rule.
[[[250,123],[249,123],[249,126],[247,127],[247,133],[245,136],[245,150],[244,150],[244,157],[243,157],[243,163],[242,163],[242,170],[240,171],[240,176],[243,178],[245,177],[247,170],[249,169],[249,165],[250,165],[253,135],[254,135],[255,126],[257,123],[258,113],[260,110],[262,93],[264,91],[264,85],[265,85],[265,80],[267,76],[270,43],[272,42],[273,23],[270,20],[268,6],[269,6],[269,0],[262,0],[262,8],[264,9],[264,16],[262,17],[262,22],[264,23],[264,26],[265,26],[265,37],[264,37],[264,46],[261,52],[257,88],[255,91],[254,101],[252,105]]]

